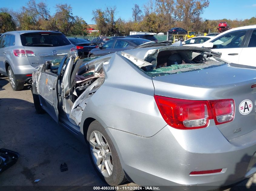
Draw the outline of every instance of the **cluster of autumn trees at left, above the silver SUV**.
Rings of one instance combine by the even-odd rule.
[[[18,30],[59,30],[64,34],[87,34],[87,23],[82,18],[73,16],[71,5],[57,4],[55,8],[55,14],[51,15],[50,8],[45,2],[37,3],[35,0],[29,0],[17,12],[9,8],[0,8],[0,13],[6,12],[11,16],[1,29],[2,31],[16,30],[16,24]],[[14,28],[6,29],[7,25],[13,25]]]

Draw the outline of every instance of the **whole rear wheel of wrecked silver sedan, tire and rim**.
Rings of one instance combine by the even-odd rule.
[[[98,121],[93,121],[87,131],[90,158],[99,176],[109,185],[117,186],[127,179],[117,151],[107,132]]]

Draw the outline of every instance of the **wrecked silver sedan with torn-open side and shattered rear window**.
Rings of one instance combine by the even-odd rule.
[[[32,93],[109,185],[208,190],[256,172],[255,74],[209,49],[144,46],[46,62]]]

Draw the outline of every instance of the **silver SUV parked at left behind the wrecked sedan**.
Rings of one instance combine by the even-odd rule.
[[[0,74],[9,77],[12,89],[32,82],[32,71],[46,61],[78,56],[77,49],[61,33],[44,30],[12,31],[0,37]]]

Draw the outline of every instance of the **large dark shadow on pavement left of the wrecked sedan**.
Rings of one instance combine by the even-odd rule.
[[[48,114],[36,114],[32,102],[1,98],[0,113],[0,148],[20,154],[17,163],[0,174],[0,190],[10,185],[42,186],[42,190],[108,186],[95,172],[86,146]],[[68,170],[61,172],[64,163]]]

